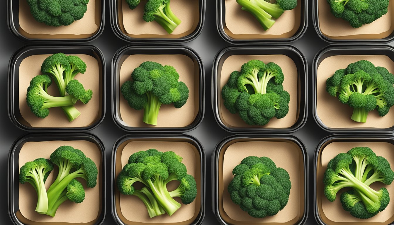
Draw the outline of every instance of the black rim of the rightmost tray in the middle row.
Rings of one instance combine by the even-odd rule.
[[[316,89],[316,81],[317,81],[317,69],[318,69],[318,60],[327,52],[330,52],[332,50],[342,50],[342,51],[347,51],[347,50],[360,50],[360,49],[365,49],[365,50],[377,50],[377,49],[384,49],[384,50],[391,50],[394,52],[394,47],[389,46],[389,45],[370,45],[370,46],[364,46],[364,45],[328,45],[324,48],[322,48],[313,58],[312,61],[312,115],[315,120],[315,122],[322,128],[323,130],[330,132],[330,133],[349,133],[349,132],[354,132],[354,133],[394,133],[394,126],[390,128],[330,128],[326,126],[322,120],[320,119],[318,112],[317,112],[317,89]]]

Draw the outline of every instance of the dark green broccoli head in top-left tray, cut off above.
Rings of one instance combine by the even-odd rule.
[[[48,26],[68,26],[84,17],[89,0],[27,0],[35,20]]]

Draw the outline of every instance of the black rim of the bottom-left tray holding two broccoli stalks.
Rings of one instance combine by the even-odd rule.
[[[106,180],[107,180],[107,175],[106,175],[106,154],[105,154],[105,147],[104,147],[104,143],[102,143],[102,141],[100,140],[100,138],[98,136],[96,136],[95,134],[92,133],[47,133],[47,132],[43,132],[43,133],[30,133],[30,134],[23,134],[21,136],[19,136],[11,145],[11,148],[9,150],[8,153],[8,159],[7,159],[7,192],[8,192],[8,197],[7,197],[7,201],[8,201],[8,216],[11,219],[11,221],[15,224],[15,225],[23,225],[23,223],[21,223],[19,221],[19,219],[17,219],[17,217],[15,216],[15,213],[13,212],[12,208],[13,208],[13,195],[11,195],[11,190],[13,188],[13,184],[12,184],[12,180],[13,180],[13,169],[11,169],[11,165],[13,164],[13,154],[15,153],[15,147],[17,147],[22,141],[28,139],[28,138],[35,138],[35,137],[44,137],[44,138],[50,138],[50,137],[59,137],[59,138],[63,138],[63,137],[69,137],[69,138],[89,138],[92,139],[97,145],[99,145],[99,150],[101,152],[101,160],[102,160],[102,207],[101,207],[101,214],[102,214],[102,219],[99,221],[97,221],[95,223],[95,225],[101,225],[104,222],[104,219],[106,217],[106,199],[107,199],[107,193],[106,193]]]

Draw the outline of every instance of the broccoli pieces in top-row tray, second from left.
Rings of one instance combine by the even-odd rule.
[[[130,9],[135,9],[140,0],[126,0]],[[144,8],[143,20],[156,21],[167,33],[172,33],[181,23],[180,19],[170,8],[170,0],[147,0]]]

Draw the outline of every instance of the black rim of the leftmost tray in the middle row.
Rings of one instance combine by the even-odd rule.
[[[100,58],[101,60],[101,67],[102,67],[102,107],[101,107],[101,117],[98,119],[93,125],[86,126],[86,127],[64,127],[64,128],[59,128],[59,127],[53,127],[53,128],[35,128],[35,127],[28,127],[24,126],[19,121],[15,118],[15,113],[13,110],[13,95],[14,95],[14,84],[13,84],[13,78],[15,76],[15,62],[18,60],[22,54],[29,52],[31,50],[35,49],[72,49],[72,48],[85,48],[85,49],[90,49],[93,50]],[[17,126],[19,129],[28,131],[28,132],[44,132],[44,131],[51,131],[51,132],[72,132],[72,131],[89,131],[102,123],[105,117],[106,113],[106,63],[105,63],[105,58],[104,54],[102,51],[97,48],[95,45],[27,45],[23,46],[22,48],[19,48],[17,51],[13,53],[9,60],[8,64],[8,80],[7,80],[8,86],[7,86],[7,113],[8,117],[11,120],[11,122]]]

